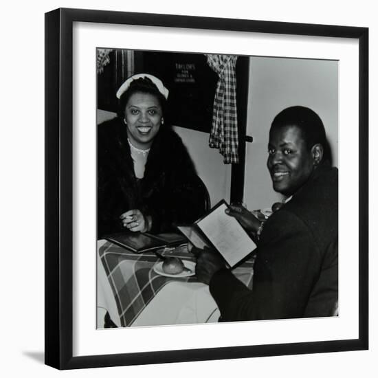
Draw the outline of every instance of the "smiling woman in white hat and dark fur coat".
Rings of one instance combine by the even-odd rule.
[[[164,124],[168,93],[155,76],[131,76],[116,94],[118,118],[98,126],[98,238],[164,232],[205,212],[192,160]]]

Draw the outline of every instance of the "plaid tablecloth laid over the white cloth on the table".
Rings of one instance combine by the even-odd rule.
[[[175,249],[166,248],[160,252],[164,256],[195,261],[186,245]],[[107,241],[100,246],[98,255],[113,291],[121,326],[131,326],[159,290],[169,282],[188,282],[188,285],[191,282],[199,282],[195,276],[170,278],[155,273],[153,267],[161,260],[152,252],[135,254]],[[235,276],[250,288],[252,288],[253,263],[254,258],[251,258],[233,269]]]

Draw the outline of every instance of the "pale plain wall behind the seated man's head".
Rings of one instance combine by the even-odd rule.
[[[282,109],[302,105],[313,109],[324,123],[333,165],[338,150],[338,63],[331,60],[267,58],[249,60],[249,99],[244,202],[249,209],[270,207],[282,199],[274,192],[266,166],[268,133]]]

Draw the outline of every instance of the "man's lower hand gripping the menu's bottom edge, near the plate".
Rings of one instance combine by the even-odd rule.
[[[206,285],[209,285],[216,271],[225,267],[221,256],[208,247],[205,247],[205,249],[193,247],[192,254],[197,256],[196,276],[199,281]]]

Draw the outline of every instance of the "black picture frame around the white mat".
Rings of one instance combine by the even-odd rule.
[[[73,45],[75,21],[355,38],[359,43],[359,335],[353,340],[73,357]],[[162,364],[368,348],[368,28],[57,9],[45,14],[45,364],[58,369]]]

